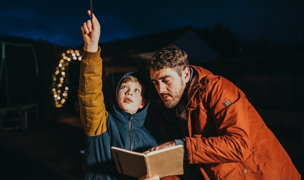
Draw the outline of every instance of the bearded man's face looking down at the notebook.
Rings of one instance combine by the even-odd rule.
[[[189,68],[185,68],[180,77],[172,68],[163,68],[159,71],[150,69],[151,81],[167,108],[175,107],[180,101],[189,81],[188,70]]]

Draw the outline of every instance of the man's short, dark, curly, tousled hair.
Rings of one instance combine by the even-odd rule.
[[[190,67],[187,57],[188,55],[185,51],[171,44],[155,53],[151,59],[148,60],[147,68],[149,70],[153,69],[154,71],[159,71],[163,68],[172,68],[173,71],[181,76],[181,72],[186,67]]]

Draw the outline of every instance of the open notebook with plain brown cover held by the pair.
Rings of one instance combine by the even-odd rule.
[[[151,151],[147,154],[111,147],[119,173],[140,178],[143,175],[181,175],[183,171],[182,145]]]

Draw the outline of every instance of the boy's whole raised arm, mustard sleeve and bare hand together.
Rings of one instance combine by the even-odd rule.
[[[90,15],[91,12],[88,11]],[[94,14],[81,26],[85,47],[81,58],[78,99],[85,133],[97,136],[106,131],[107,112],[102,94],[102,59],[98,41],[100,25]]]

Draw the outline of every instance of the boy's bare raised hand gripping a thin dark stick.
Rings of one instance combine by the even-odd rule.
[[[88,15],[91,16],[91,11],[88,10]],[[85,40],[85,49],[90,52],[98,50],[98,41],[100,36],[100,24],[95,15],[92,14],[92,22],[89,19],[81,26],[83,39]]]

